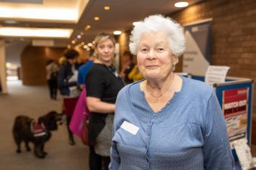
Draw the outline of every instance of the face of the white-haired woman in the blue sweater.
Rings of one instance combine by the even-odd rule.
[[[137,54],[138,68],[145,79],[161,79],[168,76],[174,66],[174,56],[161,32],[141,36]]]

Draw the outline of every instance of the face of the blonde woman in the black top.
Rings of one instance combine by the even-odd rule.
[[[97,45],[96,52],[101,60],[110,62],[115,54],[115,44],[110,39],[100,41]]]

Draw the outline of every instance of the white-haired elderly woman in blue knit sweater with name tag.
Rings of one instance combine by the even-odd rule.
[[[184,52],[180,25],[149,16],[129,45],[145,80],[118,94],[110,169],[233,169],[214,91],[173,72]]]

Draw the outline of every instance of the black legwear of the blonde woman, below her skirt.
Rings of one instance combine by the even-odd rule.
[[[110,156],[100,156],[95,153],[94,146],[90,146],[89,167],[90,170],[108,170]]]

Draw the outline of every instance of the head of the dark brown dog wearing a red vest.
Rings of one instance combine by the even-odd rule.
[[[58,129],[57,123],[62,121],[64,114],[58,114],[56,111],[49,111],[48,114],[40,116],[38,119],[39,124],[43,123],[47,130],[54,131]]]

